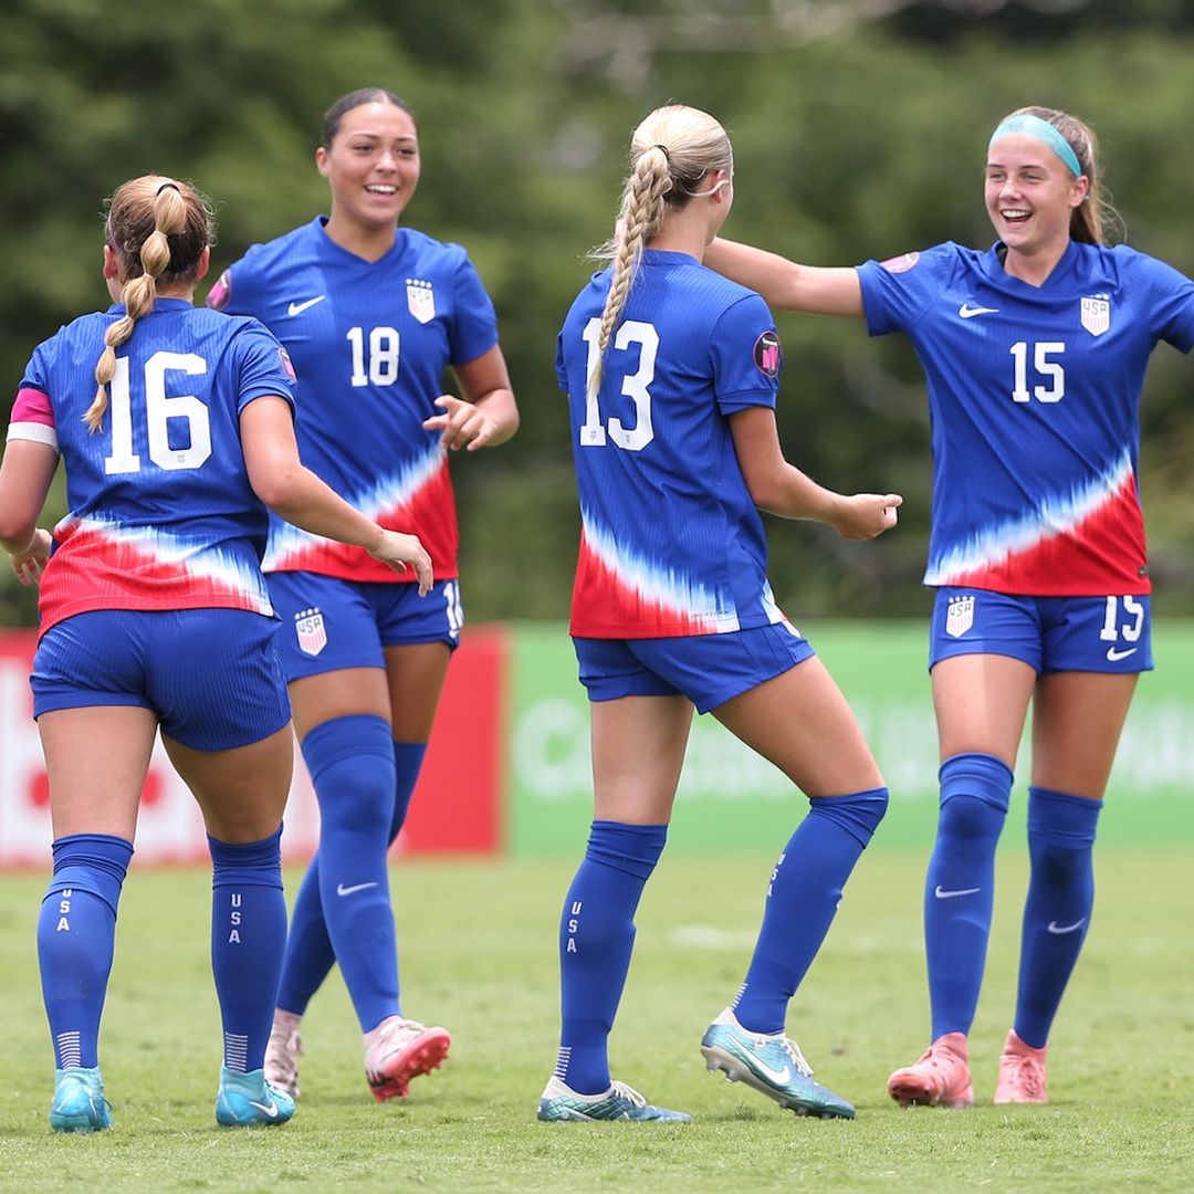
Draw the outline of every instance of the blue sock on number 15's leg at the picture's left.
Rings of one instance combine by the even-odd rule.
[[[937,839],[924,881],[933,1040],[968,1033],[974,1020],[1013,774],[993,755],[964,753],[947,758],[938,778]]]

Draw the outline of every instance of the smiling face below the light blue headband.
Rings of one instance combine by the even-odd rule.
[[[987,152],[984,198],[996,234],[1009,253],[1065,251],[1070,217],[1090,183],[1035,137],[1009,134]]]

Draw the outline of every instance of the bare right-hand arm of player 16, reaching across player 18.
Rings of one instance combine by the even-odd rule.
[[[240,438],[248,482],[275,513],[313,535],[363,547],[395,572],[413,568],[419,593],[426,596],[433,581],[431,556],[418,536],[378,527],[302,464],[284,398],[250,402],[240,416]]]

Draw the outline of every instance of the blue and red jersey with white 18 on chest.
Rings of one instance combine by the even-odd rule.
[[[443,374],[498,343],[493,303],[458,245],[399,228],[367,261],[331,240],[320,216],[254,245],[208,304],[256,315],[298,375],[298,451],[337,493],[392,530],[413,533],[436,579],[457,576],[456,505],[439,433]],[[407,583],[358,547],[270,523],[265,571]]]

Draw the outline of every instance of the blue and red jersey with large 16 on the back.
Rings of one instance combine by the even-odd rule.
[[[240,444],[254,399],[291,400],[282,347],[251,319],[159,298],[117,350],[103,427],[96,393],[105,330],[121,306],[39,345],[13,404],[10,439],[56,448],[70,512],[42,577],[42,633],[98,609],[245,609],[272,616],[261,576],[266,510]]]

